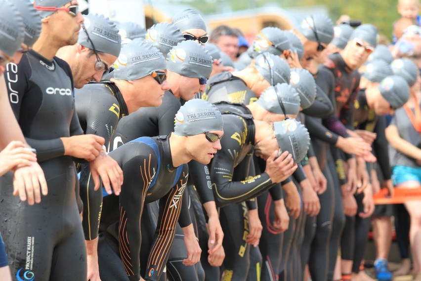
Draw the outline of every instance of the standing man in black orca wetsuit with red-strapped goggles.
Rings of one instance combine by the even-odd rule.
[[[58,48],[77,42],[83,17],[76,1],[37,0],[35,7],[42,11],[40,38],[18,66],[9,68],[6,78],[12,109],[26,140],[37,149],[49,194],[40,204],[29,206],[10,196],[12,179],[3,177],[0,208],[5,221],[1,229],[8,234],[7,251],[17,279],[32,275],[41,280],[83,280],[86,250],[75,199],[72,156],[90,161],[92,170],[102,179],[110,171],[102,171],[97,157],[104,140],[79,136],[82,129],[75,114],[71,70],[66,62],[54,57]],[[99,186],[98,176],[94,181]],[[115,189],[121,182],[119,177]],[[34,224],[38,227],[33,228]],[[72,271],[63,271],[69,267]]]

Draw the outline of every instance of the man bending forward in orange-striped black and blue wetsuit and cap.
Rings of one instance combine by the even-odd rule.
[[[100,246],[101,262],[109,263],[101,269],[102,280],[125,280],[126,277],[118,276],[118,272],[112,270],[119,266],[115,262],[119,253],[129,280],[143,280],[141,276],[145,280],[159,280],[174,239],[187,185],[186,163],[192,159],[202,164],[211,161],[221,148],[222,123],[221,114],[214,105],[193,99],[178,110],[174,133],[169,137],[138,138],[110,153],[130,180],[122,186],[119,197],[110,195],[104,198],[103,212],[107,215],[101,217],[100,229],[104,231],[108,244],[118,246],[120,251],[113,252],[110,247],[110,252],[101,255]],[[147,245],[149,248],[144,249],[145,245],[142,245],[142,251],[148,252],[149,258],[142,260],[141,264],[140,219],[143,204],[158,199],[157,229],[152,244]],[[199,258],[197,256],[190,262],[194,264]]]

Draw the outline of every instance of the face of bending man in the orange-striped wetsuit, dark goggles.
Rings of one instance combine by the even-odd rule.
[[[224,134],[223,131],[210,131],[209,133],[215,134],[219,138]],[[215,142],[211,142],[206,138],[204,133],[188,136],[186,138],[186,149],[190,158],[202,164],[209,164],[213,158],[213,154],[221,149],[221,141],[218,139]]]

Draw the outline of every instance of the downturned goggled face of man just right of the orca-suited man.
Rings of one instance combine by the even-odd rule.
[[[82,47],[82,46],[81,46]],[[99,59],[105,64],[108,69],[117,60],[115,55],[109,53],[98,53]],[[80,89],[90,81],[101,81],[104,70],[96,70],[95,64],[98,59],[92,50],[82,47],[78,53],[75,65],[72,68],[73,79],[75,87]]]

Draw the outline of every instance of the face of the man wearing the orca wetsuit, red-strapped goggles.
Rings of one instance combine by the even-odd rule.
[[[71,1],[63,7],[67,8],[73,5],[78,5],[78,1]],[[81,12],[74,15],[72,12],[58,10],[48,17],[53,41],[57,42],[59,47],[75,45],[78,42],[81,24],[84,22]]]

